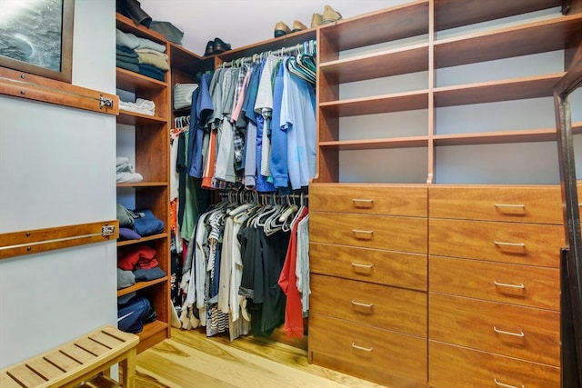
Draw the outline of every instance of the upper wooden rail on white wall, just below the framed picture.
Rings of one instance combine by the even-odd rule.
[[[119,114],[119,97],[117,95],[5,67],[0,67],[0,95],[12,95],[102,114]]]

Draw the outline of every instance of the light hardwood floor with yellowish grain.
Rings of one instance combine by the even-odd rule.
[[[297,347],[298,346],[298,347]],[[307,363],[302,343],[291,346],[246,336],[172,329],[172,338],[137,356],[137,388],[380,387]]]

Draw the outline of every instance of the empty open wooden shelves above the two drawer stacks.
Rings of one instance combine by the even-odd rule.
[[[577,45],[582,14],[559,14],[556,0],[494,2],[484,6],[476,0],[425,0],[322,26],[318,42],[318,148],[319,170],[314,183],[340,182],[341,151],[426,147],[426,182],[437,181],[437,148],[441,145],[537,143],[550,141],[552,129],[520,128],[490,132],[441,134],[438,108],[550,97],[552,87],[564,72],[524,75],[487,82],[437,85],[437,72],[451,66],[568,50]],[[434,20],[430,8],[434,8]],[[574,5],[577,10],[579,5]],[[547,11],[528,21],[528,13]],[[501,20],[525,15],[524,21]],[[498,22],[497,26],[474,25]],[[429,26],[433,25],[433,31]],[[380,28],[379,26],[382,26]],[[450,29],[461,27],[460,31]],[[441,37],[442,35],[442,37]],[[376,47],[374,46],[376,45]],[[345,55],[363,49],[364,54]],[[565,55],[564,70],[568,55]],[[459,70],[462,71],[462,70]],[[395,75],[427,74],[424,88],[387,95],[342,98],[348,83]],[[426,111],[426,134],[342,140],[341,118],[370,114]],[[351,129],[350,129],[351,130]],[[359,131],[360,128],[357,128]],[[555,130],[554,130],[555,132]],[[350,138],[353,136],[350,135]],[[374,183],[399,183],[389,175]],[[422,181],[418,183],[423,183]]]

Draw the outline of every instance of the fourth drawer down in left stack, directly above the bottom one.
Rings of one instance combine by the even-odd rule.
[[[426,337],[426,293],[311,275],[310,312]]]

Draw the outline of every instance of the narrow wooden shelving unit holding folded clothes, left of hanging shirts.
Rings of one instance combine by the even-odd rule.
[[[162,35],[143,26],[136,26],[133,21],[123,15],[116,15],[116,27],[126,33],[152,40],[160,45],[169,44]],[[117,124],[133,127],[135,136],[132,144],[135,147],[135,171],[144,176],[144,180],[135,184],[117,184],[118,194],[131,195],[135,199],[135,208],[146,208],[152,211],[156,218],[165,224],[161,234],[143,236],[140,240],[119,241],[118,249],[127,246],[146,244],[156,249],[156,260],[159,267],[166,273],[165,277],[151,282],[137,284],[117,291],[118,296],[137,292],[144,295],[156,310],[157,320],[147,323],[144,330],[138,333],[140,343],[138,352],[142,352],[170,336],[170,234],[169,234],[169,129],[170,129],[170,87],[169,75],[165,81],[159,81],[145,75],[116,69],[117,89],[144,98],[156,104],[153,116],[121,110]],[[125,130],[118,127],[118,131]],[[124,155],[120,155],[124,156]]]

